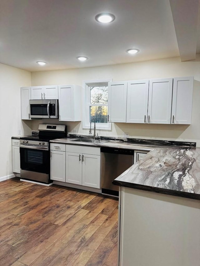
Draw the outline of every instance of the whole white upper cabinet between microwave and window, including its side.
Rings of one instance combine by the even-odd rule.
[[[81,121],[82,87],[58,85],[59,121]]]

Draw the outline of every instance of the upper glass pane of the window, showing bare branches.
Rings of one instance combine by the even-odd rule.
[[[90,87],[91,104],[108,104],[108,86]]]

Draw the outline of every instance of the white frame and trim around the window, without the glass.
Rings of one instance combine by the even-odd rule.
[[[83,80],[83,128],[90,128],[90,86],[102,86],[113,79]],[[94,127],[94,123],[92,123]],[[96,123],[96,129],[111,130],[112,123]]]

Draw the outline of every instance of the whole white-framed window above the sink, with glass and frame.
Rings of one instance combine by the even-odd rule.
[[[112,80],[84,81],[83,128],[90,128],[92,118],[97,129],[111,130],[108,123],[108,82]]]

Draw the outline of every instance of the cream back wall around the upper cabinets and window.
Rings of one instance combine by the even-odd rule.
[[[200,146],[200,55],[197,55],[196,60],[187,62],[181,62],[179,57],[174,57],[93,68],[32,72],[31,84],[33,86],[82,85],[83,80],[112,78],[113,81],[118,81],[180,76],[194,76],[191,125],[113,123],[112,131],[98,130],[97,132],[100,136],[123,137],[123,132],[127,132],[132,138],[194,141],[197,142],[197,146]],[[38,123],[38,121],[33,121],[32,127],[34,130],[37,130]],[[42,123],[59,122],[55,119],[46,119]],[[82,128],[81,122],[60,123],[68,125],[69,133],[73,133],[73,129],[77,129],[79,134],[88,135],[89,133],[87,129]]]

